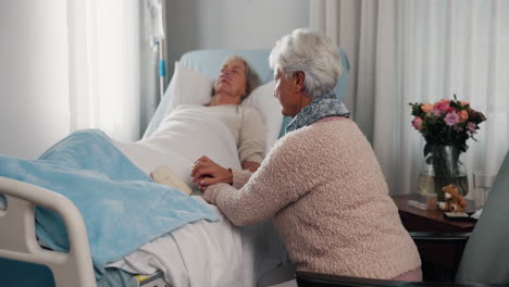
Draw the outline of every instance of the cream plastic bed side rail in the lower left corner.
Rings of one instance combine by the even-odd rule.
[[[0,176],[0,257],[47,265],[57,286],[95,287],[87,230],[78,209],[66,197],[48,189]],[[70,252],[42,249],[35,234],[35,208],[57,212],[65,223]]]

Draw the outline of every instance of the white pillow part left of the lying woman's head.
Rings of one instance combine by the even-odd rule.
[[[165,114],[178,104],[207,104],[211,99],[214,80],[181,62],[175,62],[175,72],[170,84],[170,99]]]

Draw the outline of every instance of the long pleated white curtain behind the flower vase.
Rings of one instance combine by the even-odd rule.
[[[409,102],[470,101],[487,121],[468,141],[467,172],[498,171],[509,148],[509,1],[311,0],[310,11],[349,57],[345,103],[392,194],[415,192],[423,164]]]

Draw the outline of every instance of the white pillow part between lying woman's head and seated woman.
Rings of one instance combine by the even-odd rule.
[[[280,101],[274,97],[275,82],[269,82],[256,88],[243,101],[243,105],[251,107],[260,112],[266,130],[266,152],[271,149],[280,136],[283,114]]]

